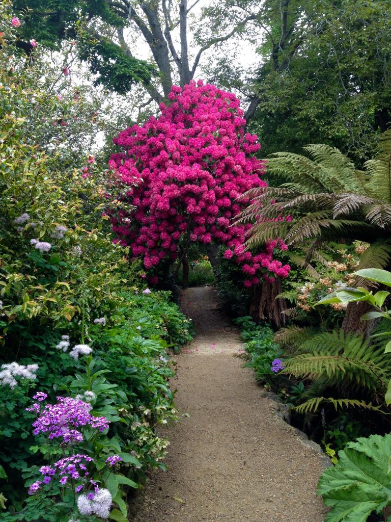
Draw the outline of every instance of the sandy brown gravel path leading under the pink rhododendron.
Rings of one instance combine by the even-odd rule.
[[[324,461],[233,357],[243,345],[215,291],[186,290],[182,308],[197,337],[177,356],[172,384],[190,417],[169,428],[169,470],[152,475],[134,521],[322,522],[315,490]]]

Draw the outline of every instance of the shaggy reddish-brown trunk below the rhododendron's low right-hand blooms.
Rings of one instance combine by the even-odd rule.
[[[282,291],[280,278],[276,278],[272,283],[263,281],[254,287],[250,315],[255,321],[261,319],[278,328],[285,325],[285,315],[283,314],[287,309],[285,300],[276,299],[276,296]]]

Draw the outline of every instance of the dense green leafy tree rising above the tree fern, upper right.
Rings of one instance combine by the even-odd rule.
[[[207,16],[224,26],[234,5],[240,17],[256,4],[225,0]],[[391,121],[390,0],[265,0],[247,38],[261,63],[247,81],[237,85],[237,64],[226,57],[210,77],[224,88],[234,79],[248,96],[246,117],[265,155],[309,143],[372,155]]]

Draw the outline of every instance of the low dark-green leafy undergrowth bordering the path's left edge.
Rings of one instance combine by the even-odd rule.
[[[71,334],[62,339],[66,330],[46,331],[43,340],[31,336],[26,346],[30,355],[18,364],[37,364],[36,379],[19,381],[14,388],[0,387],[0,458],[2,478],[7,479],[2,481],[2,492],[8,508],[4,520],[37,520],[43,513],[47,519],[69,520],[75,495],[72,489],[62,491],[59,477],[39,484],[34,494],[27,493],[31,484],[34,488],[44,480],[39,469],[54,469],[60,458],[87,455],[92,459],[88,479],[79,472],[72,488],[82,485],[81,494],[88,494],[91,480],[107,488],[116,504],[109,516],[113,520],[126,520],[127,497],[143,484],[146,470],[165,469],[168,441],[156,428],[177,419],[174,393],[167,383],[173,376],[167,351],[191,340],[191,323],[169,302],[168,292],[123,292],[119,298],[106,322],[85,325],[92,349],[88,357],[71,357],[70,346],[79,338]],[[36,392],[47,395],[35,402],[40,411],[26,411]],[[71,444],[61,436],[48,438],[42,431],[34,435],[36,415],[42,415],[45,404],[58,404],[57,397],[88,403],[94,418],[105,418],[108,428],[101,432],[87,425],[77,427],[81,440]],[[71,425],[72,420],[62,424],[62,431],[69,431]],[[113,454],[120,460],[109,469],[106,460]]]

